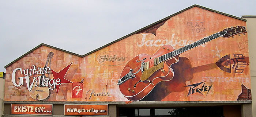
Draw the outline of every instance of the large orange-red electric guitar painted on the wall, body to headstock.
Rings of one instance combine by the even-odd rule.
[[[244,26],[225,28],[223,31],[207,36],[187,46],[174,50],[170,45],[164,45],[153,55],[140,54],[129,61],[118,79],[117,85],[121,93],[131,101],[139,101],[162,81],[170,81],[174,76],[171,65],[177,63],[179,55],[219,37],[229,38],[244,34]]]

